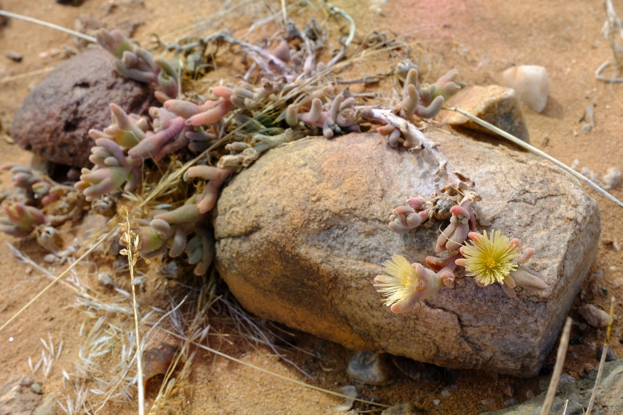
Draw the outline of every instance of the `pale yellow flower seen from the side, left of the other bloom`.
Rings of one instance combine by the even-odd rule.
[[[385,261],[384,270],[389,275],[378,275],[374,278],[375,287],[380,287],[385,305],[392,305],[412,296],[417,291],[420,277],[404,256],[392,255],[391,261]]]

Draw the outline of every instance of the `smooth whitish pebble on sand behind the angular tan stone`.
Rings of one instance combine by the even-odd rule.
[[[549,95],[547,70],[538,65],[521,65],[508,68],[502,74],[504,83],[513,88],[531,110],[540,113],[545,109]]]

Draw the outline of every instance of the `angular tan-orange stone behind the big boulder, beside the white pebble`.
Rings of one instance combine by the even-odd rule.
[[[499,85],[470,86],[450,98],[447,106],[456,106],[503,129],[506,133],[513,134],[518,139],[530,142],[526,117],[521,110],[521,104],[515,90]],[[439,121],[446,121],[451,126],[475,129],[499,137],[493,131],[454,111],[442,111]]]

